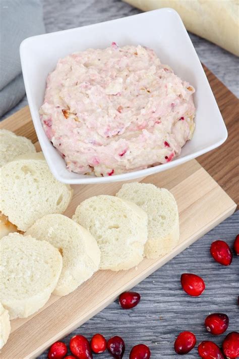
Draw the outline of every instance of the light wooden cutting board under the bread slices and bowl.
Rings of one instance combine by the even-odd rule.
[[[213,76],[209,72],[207,74]],[[230,96],[229,90],[214,76],[212,82],[217,89],[221,89],[223,94]],[[225,106],[225,101],[226,97],[223,95],[221,98],[223,106]],[[229,117],[232,118],[231,116],[234,116],[233,111],[228,112],[228,121]],[[6,128],[30,138],[39,149],[28,107],[0,123],[0,128]],[[232,141],[234,141],[234,137]],[[226,151],[226,147],[224,148]],[[221,157],[218,160],[217,158],[218,156],[215,157],[213,163],[211,162],[210,170],[212,167],[215,169],[217,161],[221,161]],[[202,157],[200,161],[205,161],[207,166],[210,162],[207,157]],[[217,176],[217,173],[218,171],[215,170],[212,175]],[[227,175],[228,180],[230,181],[230,177]],[[236,208],[234,201],[196,160],[146,177],[142,181],[165,187],[175,196],[180,213],[180,243],[170,253],[158,260],[145,259],[137,268],[129,271],[118,273],[98,271],[73,293],[65,297],[52,295],[47,304],[36,314],[11,322],[12,333],[8,343],[2,349],[0,358],[36,357],[52,342],[67,335],[101,311],[121,292],[132,288],[170,261],[175,255],[230,216]],[[221,178],[220,181],[222,182]],[[121,185],[122,183],[74,185],[74,197],[66,215],[71,217],[82,200],[97,194],[113,195]],[[222,183],[222,185],[224,184]],[[229,186],[229,190],[233,196],[236,196],[234,188]]]

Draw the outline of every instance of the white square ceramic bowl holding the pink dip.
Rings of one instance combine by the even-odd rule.
[[[121,175],[96,177],[70,173],[65,161],[45,135],[39,108],[43,103],[46,77],[59,58],[89,47],[105,48],[112,41],[120,46],[148,46],[163,64],[196,89],[196,128],[191,141],[172,162]],[[20,46],[24,83],[35,130],[53,175],[70,184],[125,181],[165,171],[216,148],[227,138],[227,130],[194,46],[180,16],[160,9],[99,24],[33,36]]]

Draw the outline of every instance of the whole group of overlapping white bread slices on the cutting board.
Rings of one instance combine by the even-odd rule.
[[[32,315],[51,293],[71,293],[98,269],[128,270],[168,253],[179,221],[168,190],[137,182],[84,200],[70,219],[63,213],[73,190],[53,177],[42,153],[10,131],[0,138],[1,348],[10,319]]]

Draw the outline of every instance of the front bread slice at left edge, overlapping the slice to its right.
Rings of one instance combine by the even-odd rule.
[[[0,240],[0,301],[10,319],[26,318],[49,299],[62,271],[62,256],[46,241],[10,233]]]

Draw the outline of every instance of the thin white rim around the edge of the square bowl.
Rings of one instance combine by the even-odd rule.
[[[178,165],[181,165],[185,162],[188,162],[192,159],[195,159],[198,156],[203,155],[206,152],[209,152],[213,149],[215,149],[216,147],[220,146],[226,139],[227,139],[227,129],[225,126],[225,123],[221,117],[221,121],[222,121],[222,125],[224,125],[223,127],[223,135],[221,136],[221,138],[219,140],[217,140],[216,142],[214,142],[211,145],[205,146],[203,149],[197,150],[195,152],[189,153],[188,155],[185,155],[181,158],[175,158],[173,161],[165,163],[165,164],[161,164],[161,165],[157,165],[154,167],[149,167],[143,170],[136,170],[136,171],[131,171],[131,172],[126,172],[123,174],[118,174],[118,175],[113,175],[113,176],[105,176],[105,177],[96,177],[96,176],[88,176],[88,175],[81,175],[81,174],[75,174],[76,176],[82,176],[82,177],[76,177],[76,178],[72,178],[70,177],[70,172],[69,172],[69,177],[66,177],[65,175],[61,174],[61,169],[57,168],[57,166],[53,165],[53,159],[51,158],[51,156],[49,155],[47,148],[46,148],[46,141],[50,142],[48,140],[48,138],[43,138],[40,131],[38,130],[38,126],[42,127],[42,124],[40,122],[40,118],[39,118],[39,114],[38,111],[36,111],[35,105],[32,103],[32,94],[31,94],[31,90],[28,86],[27,80],[26,80],[26,75],[25,75],[25,71],[24,71],[24,61],[25,61],[25,56],[24,56],[24,48],[26,46],[28,46],[29,42],[31,41],[35,41],[38,38],[46,38],[49,36],[59,36],[62,33],[71,33],[74,31],[79,31],[79,29],[82,28],[89,28],[89,27],[97,27],[100,26],[101,24],[105,24],[105,23],[112,23],[112,22],[121,22],[123,19],[129,19],[130,18],[135,18],[135,17],[150,17],[152,13],[162,13],[162,12],[166,12],[166,13],[173,13],[174,16],[177,16],[177,18],[180,19],[181,22],[181,26],[185,32],[185,35],[187,37],[187,39],[191,42],[191,46],[192,49],[194,50],[197,58],[198,55],[196,53],[196,50],[194,48],[194,45],[189,37],[189,34],[183,24],[183,21],[180,17],[180,15],[171,8],[162,8],[162,9],[157,9],[157,10],[153,10],[153,11],[149,11],[149,12],[143,12],[140,14],[136,14],[136,15],[131,15],[128,17],[123,17],[123,18],[118,18],[118,19],[113,19],[113,20],[108,20],[108,21],[103,21],[103,22],[99,22],[96,24],[89,24],[86,26],[81,26],[81,27],[75,27],[72,29],[67,29],[67,30],[60,30],[60,31],[54,31],[54,32],[49,32],[49,33],[45,33],[45,34],[41,34],[41,35],[36,35],[36,36],[30,36],[26,39],[24,39],[21,44],[20,44],[20,58],[21,58],[21,64],[22,64],[22,70],[23,70],[23,78],[24,78],[24,84],[25,84],[25,88],[26,88],[26,93],[27,93],[27,97],[28,97],[28,102],[29,102],[29,108],[30,108],[30,112],[31,112],[31,116],[32,116],[32,121],[34,124],[34,128],[37,134],[37,138],[39,140],[40,146],[42,148],[42,151],[44,153],[45,156],[45,160],[49,166],[50,171],[52,172],[52,174],[54,175],[54,177],[63,183],[67,183],[67,184],[96,184],[96,183],[110,183],[110,182],[120,182],[120,181],[127,181],[127,180],[133,180],[133,179],[138,179],[138,178],[142,178],[142,177],[147,177],[149,175],[155,174],[155,173],[159,173],[165,170],[168,170],[170,168],[176,167]],[[199,60],[199,59],[198,59]],[[200,63],[200,60],[199,60]],[[200,66],[202,67],[201,63]],[[203,68],[202,68],[203,69]],[[203,70],[203,76],[206,78],[207,82],[208,79],[206,77],[206,74]],[[210,87],[210,84],[209,84]],[[211,89],[211,87],[210,87]],[[212,92],[212,90],[211,90]],[[213,93],[212,96],[214,97]],[[50,143],[52,145],[52,143]],[[53,145],[52,145],[53,146]],[[53,146],[54,147],[54,146]],[[54,150],[57,151],[57,149],[54,147]],[[65,166],[65,163],[64,163]],[[84,177],[85,176],[85,177]]]

